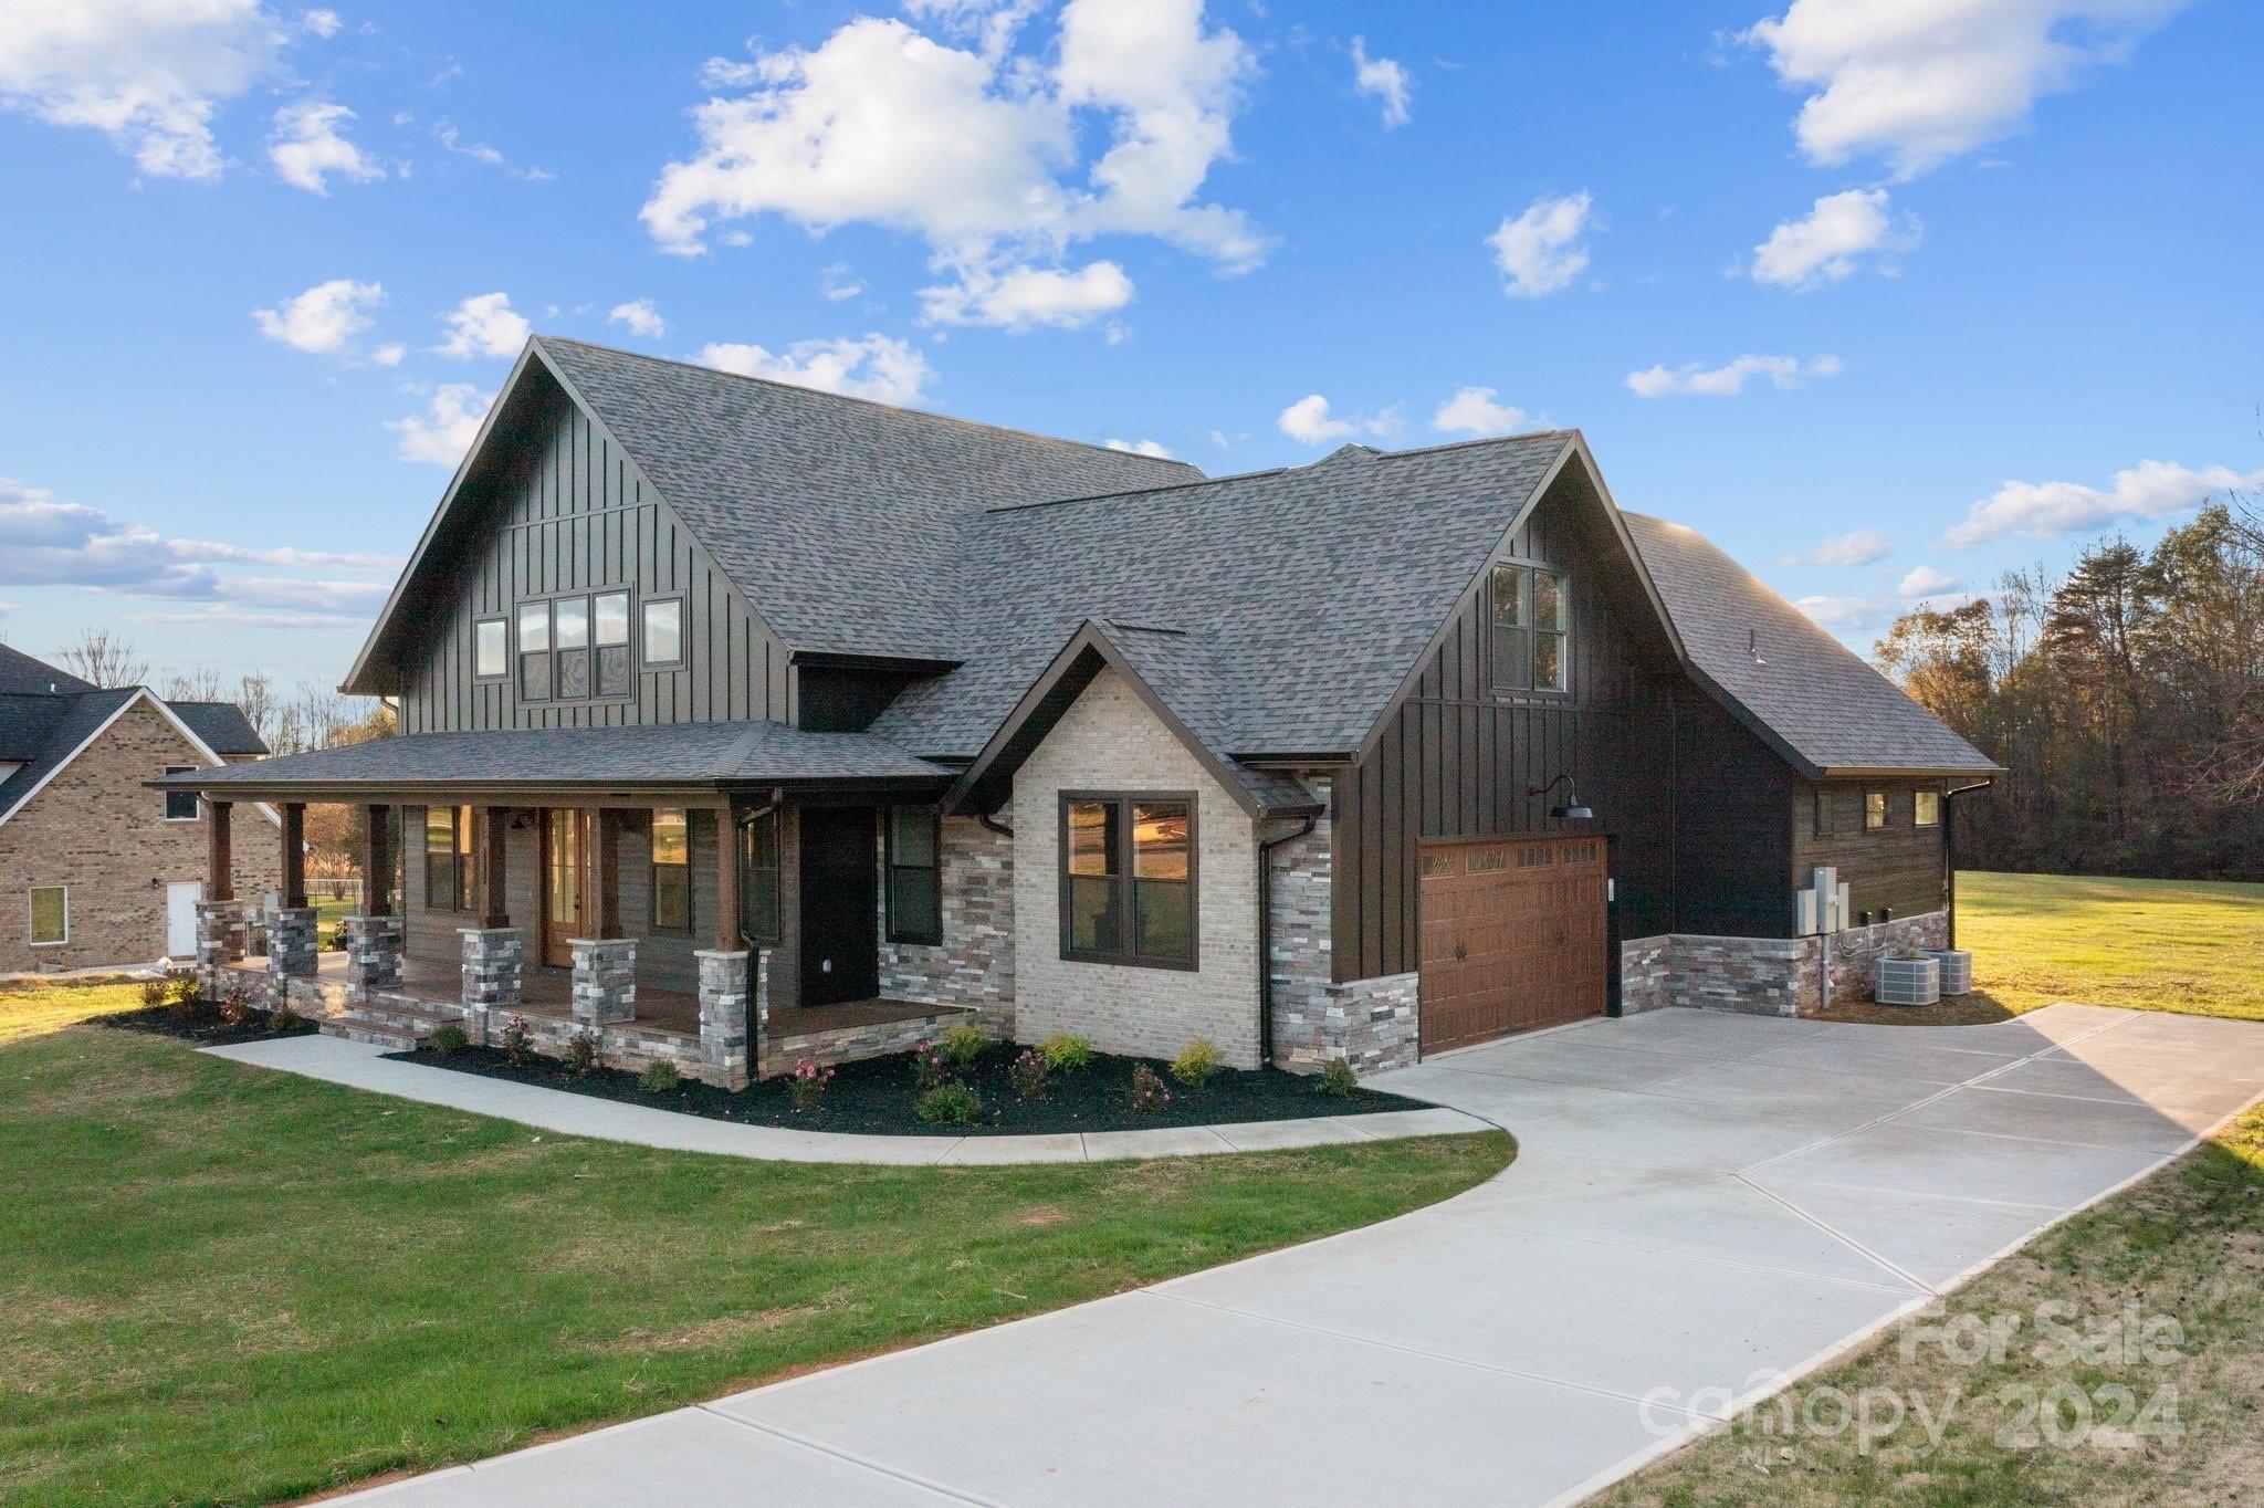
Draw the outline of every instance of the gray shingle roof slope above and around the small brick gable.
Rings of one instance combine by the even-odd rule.
[[[964,663],[872,731],[967,759],[1094,618],[1220,754],[1358,747],[1564,432],[1005,507],[967,525]]]

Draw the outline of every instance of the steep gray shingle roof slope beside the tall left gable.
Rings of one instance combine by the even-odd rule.
[[[958,659],[967,514],[1202,475],[575,340],[537,344],[792,650]]]

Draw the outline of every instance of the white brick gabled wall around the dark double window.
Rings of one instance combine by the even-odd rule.
[[[1193,790],[1200,969],[1069,962],[1060,931],[1062,790]],[[1209,1037],[1259,1062],[1257,833],[1146,702],[1103,670],[1014,774],[1014,1039],[1089,1037],[1105,1053],[1170,1057]]]

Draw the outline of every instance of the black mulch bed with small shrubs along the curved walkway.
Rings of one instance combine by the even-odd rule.
[[[394,1057],[437,1069],[484,1073],[487,1078],[507,1078],[516,1085],[541,1085],[546,1089],[593,1094],[604,1100],[652,1105],[713,1121],[863,1132],[869,1137],[1005,1137],[1429,1109],[1422,1100],[1379,1094],[1374,1089],[1354,1089],[1349,1096],[1338,1098],[1322,1094],[1313,1078],[1279,1069],[1220,1069],[1202,1089],[1186,1089],[1164,1073],[1166,1064],[1161,1062],[1098,1053],[1089,1069],[1060,1071],[1046,1082],[1044,1098],[1026,1100],[1007,1080],[1007,1064],[1014,1060],[1014,1053],[1017,1048],[994,1046],[974,1069],[960,1071],[960,1078],[983,1100],[983,1114],[974,1125],[931,1125],[915,1114],[912,1100],[919,1098],[919,1087],[912,1080],[910,1053],[842,1064],[833,1071],[833,1082],[826,1085],[815,1109],[795,1109],[783,1078],[761,1080],[738,1094],[691,1080],[684,1080],[668,1094],[645,1094],[636,1087],[636,1076],[620,1069],[593,1069],[577,1076],[555,1057],[532,1057],[514,1064],[500,1048],[466,1046],[455,1053],[439,1053],[432,1046],[419,1046],[412,1053],[394,1053]],[[1132,1109],[1132,1069],[1141,1062],[1148,1062],[1150,1069],[1164,1076],[1164,1085],[1170,1089],[1170,1105],[1155,1112]]]

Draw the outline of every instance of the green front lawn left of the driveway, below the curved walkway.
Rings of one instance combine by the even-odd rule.
[[[1039,1168],[580,1141],[0,994],[0,1501],[491,1456],[1458,1193],[1508,1137]]]

